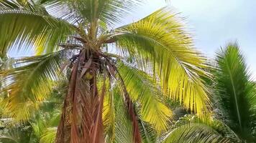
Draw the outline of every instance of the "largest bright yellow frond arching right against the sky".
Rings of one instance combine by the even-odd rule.
[[[136,66],[160,82],[164,94],[179,100],[187,109],[204,114],[210,103],[201,77],[206,59],[168,7],[115,30],[116,45],[123,56],[132,56]]]

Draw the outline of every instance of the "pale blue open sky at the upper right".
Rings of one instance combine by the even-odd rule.
[[[166,5],[164,0],[147,0],[125,22],[137,21]],[[256,79],[256,0],[170,0],[168,5],[186,17],[196,48],[206,56],[214,57],[220,46],[238,41]]]

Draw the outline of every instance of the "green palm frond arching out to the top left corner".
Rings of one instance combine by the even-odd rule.
[[[59,49],[74,29],[71,24],[56,19],[42,6],[15,1],[0,1],[0,54],[15,49],[35,48],[38,54]]]

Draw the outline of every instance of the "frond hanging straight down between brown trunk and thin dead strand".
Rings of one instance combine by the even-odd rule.
[[[122,92],[117,85],[111,88],[104,99],[103,120],[106,142],[132,142],[132,122],[128,118]]]

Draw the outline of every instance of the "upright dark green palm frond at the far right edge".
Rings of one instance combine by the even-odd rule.
[[[244,57],[236,42],[227,44],[216,57],[217,112],[242,141],[256,140],[256,92]]]

